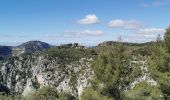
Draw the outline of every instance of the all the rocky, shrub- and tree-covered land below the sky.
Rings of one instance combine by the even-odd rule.
[[[170,97],[170,27],[162,39],[141,44],[108,41],[84,47],[43,43],[41,48],[38,42],[35,46],[30,43],[24,45],[29,52],[13,55],[10,51],[10,55],[4,54],[6,59],[0,59],[0,100]]]

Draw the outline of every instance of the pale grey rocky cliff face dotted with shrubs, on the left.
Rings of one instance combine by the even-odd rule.
[[[71,49],[71,48],[70,48]],[[42,86],[55,86],[59,92],[66,91],[79,97],[83,88],[90,85],[89,79],[93,76],[91,70],[90,56],[79,56],[64,58],[62,53],[67,49],[56,48],[54,51],[37,52],[31,55],[18,55],[0,65],[0,82],[8,87],[11,92],[27,95]],[[86,52],[83,49],[76,49],[77,55]],[[55,55],[55,53],[57,54]],[[52,53],[52,54],[51,54]],[[73,52],[72,52],[73,53]]]

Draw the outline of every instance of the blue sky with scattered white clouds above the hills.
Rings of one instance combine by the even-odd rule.
[[[0,45],[147,42],[170,25],[170,0],[0,0]]]

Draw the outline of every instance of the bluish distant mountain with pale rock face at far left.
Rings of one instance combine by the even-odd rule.
[[[52,45],[41,41],[28,41],[18,46],[0,46],[0,60],[22,53],[33,53],[51,48]]]

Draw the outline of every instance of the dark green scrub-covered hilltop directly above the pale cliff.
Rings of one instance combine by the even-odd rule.
[[[58,62],[61,64],[77,61],[82,57],[92,57],[94,53],[95,51],[92,49],[79,48],[51,48],[42,52],[49,59],[55,59],[57,57]]]

